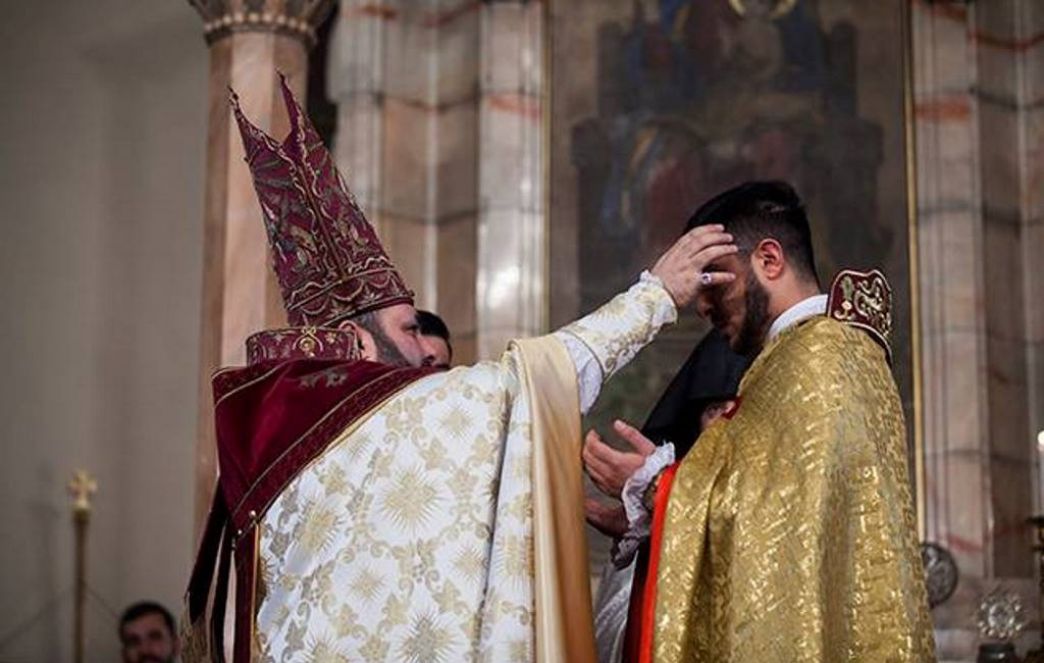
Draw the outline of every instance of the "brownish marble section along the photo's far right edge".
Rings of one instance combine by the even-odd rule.
[[[1030,241],[1034,214],[1038,224],[1041,220],[1041,192],[1028,184],[1034,176],[1031,169],[1040,176],[1039,150],[1044,133],[1038,126],[1034,136],[1029,122],[1035,113],[1028,96],[1030,86],[1037,90],[1042,86],[1034,84],[1027,67],[1033,64],[1030,57],[1044,62],[1044,48],[1039,44],[1044,11],[1036,11],[1036,29],[1031,21],[1034,7],[1039,5],[1019,0],[979,3],[975,6],[972,34],[979,78],[979,134],[983,137],[980,177],[993,488],[991,562],[995,576],[1011,578],[1030,578],[1036,566],[1029,552],[1033,537],[1025,522],[1037,492],[1027,351],[1033,335],[1040,330],[1027,326],[1027,312],[1039,310],[1040,301],[1026,295],[1031,287],[1029,279],[1040,273],[1038,260],[1044,246],[1040,235],[1036,246]],[[1037,34],[1036,48],[1033,32]],[[1039,78],[1042,72],[1037,71]],[[1039,105],[1040,97],[1037,100]],[[1039,108],[1036,114],[1041,117]],[[1028,261],[1028,269],[1024,260]]]

